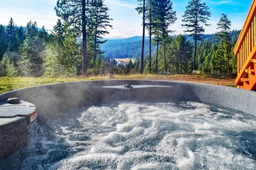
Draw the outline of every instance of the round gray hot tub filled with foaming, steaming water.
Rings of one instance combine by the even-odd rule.
[[[7,169],[256,168],[254,91],[111,80],[16,90],[0,103],[13,97],[36,106],[38,130],[0,160]]]

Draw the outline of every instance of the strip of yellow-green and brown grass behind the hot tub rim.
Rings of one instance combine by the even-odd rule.
[[[213,75],[155,75],[155,74],[132,74],[132,75],[106,75],[99,77],[75,77],[75,78],[27,78],[27,77],[18,77],[18,78],[7,78],[0,77],[0,94],[12,91],[16,89],[39,86],[43,84],[54,84],[62,82],[74,82],[74,81],[89,81],[89,80],[168,80],[168,81],[189,81],[189,82],[199,82],[199,83],[208,83],[208,84],[218,84],[223,86],[235,87],[235,78],[219,77]]]

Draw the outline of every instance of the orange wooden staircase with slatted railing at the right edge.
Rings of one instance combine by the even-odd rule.
[[[247,14],[234,53],[237,56],[236,86],[256,90],[256,0],[253,0]]]

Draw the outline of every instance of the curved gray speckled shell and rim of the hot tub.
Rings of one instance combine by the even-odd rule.
[[[124,84],[131,84],[132,87],[125,88]],[[0,103],[11,97],[18,97],[35,104],[38,117],[42,120],[57,118],[70,109],[120,100],[173,103],[196,101],[236,109],[256,116],[254,108],[256,92],[190,82],[108,80],[59,83],[1,94]],[[12,128],[21,128],[20,121],[17,121],[17,124],[12,123]],[[2,135],[1,126],[4,125],[0,125],[0,135]]]

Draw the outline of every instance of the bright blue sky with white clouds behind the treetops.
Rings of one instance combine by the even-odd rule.
[[[30,20],[36,21],[38,27],[45,26],[51,30],[57,21],[54,6],[57,0],[9,0],[1,2],[0,6],[0,23],[7,24],[12,16],[15,24],[25,26]],[[210,7],[212,17],[209,21],[210,27],[205,28],[205,33],[216,32],[216,24],[222,13],[228,15],[232,22],[231,29],[241,29],[247,12],[249,11],[252,0],[202,0]],[[134,8],[137,6],[137,0],[105,0],[109,7],[110,17],[114,20],[111,22],[114,29],[110,29],[110,35],[106,38],[126,38],[140,36],[141,16],[137,14]],[[181,19],[184,14],[186,0],[173,0],[173,8],[177,11],[178,20],[171,26],[174,33],[183,33],[181,28]]]

